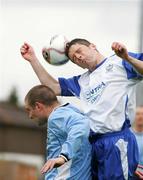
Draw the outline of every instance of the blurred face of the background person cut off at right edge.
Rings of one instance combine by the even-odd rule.
[[[139,126],[143,126],[143,107],[137,108],[135,123]]]

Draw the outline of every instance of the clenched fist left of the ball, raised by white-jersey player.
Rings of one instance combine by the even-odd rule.
[[[24,43],[20,48],[21,55],[24,59],[31,62],[36,58],[34,49],[28,43]]]

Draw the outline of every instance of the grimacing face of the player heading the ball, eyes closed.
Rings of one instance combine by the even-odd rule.
[[[93,44],[85,46],[74,44],[69,49],[69,58],[71,61],[82,68],[90,69],[96,63],[96,47]]]

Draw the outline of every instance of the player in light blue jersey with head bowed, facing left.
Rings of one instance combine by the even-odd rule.
[[[33,87],[25,108],[40,125],[47,122],[47,162],[41,169],[45,180],[91,180],[89,120],[70,104],[60,105],[44,85]]]

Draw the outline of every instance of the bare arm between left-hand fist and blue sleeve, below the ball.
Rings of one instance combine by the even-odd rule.
[[[56,95],[60,95],[60,85],[56,79],[54,79],[41,65],[39,60],[35,58],[33,61],[30,62],[33,70],[35,71],[38,79],[40,80],[41,84],[44,84],[50,87]]]

